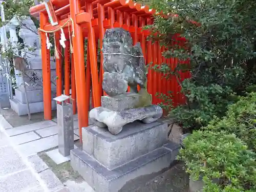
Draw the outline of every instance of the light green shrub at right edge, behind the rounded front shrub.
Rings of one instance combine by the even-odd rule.
[[[204,129],[235,134],[256,152],[256,93],[240,97],[238,102],[229,105],[223,119],[212,120]]]

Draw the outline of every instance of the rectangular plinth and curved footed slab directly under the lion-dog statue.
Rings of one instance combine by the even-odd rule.
[[[162,116],[163,110],[159,105],[138,107],[142,99],[137,93],[102,96],[102,106],[92,109],[89,116],[95,125],[100,128],[108,127],[113,135],[117,135],[127,123],[136,120],[151,123]]]

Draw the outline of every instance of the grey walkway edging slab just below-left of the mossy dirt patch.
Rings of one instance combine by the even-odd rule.
[[[50,169],[46,169],[40,174],[40,178],[46,183],[46,186],[50,191],[56,191],[63,188],[63,184],[55,176],[55,174]]]

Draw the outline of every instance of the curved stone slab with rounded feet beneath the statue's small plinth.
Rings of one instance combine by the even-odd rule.
[[[127,123],[136,120],[142,120],[144,123],[152,123],[159,119],[162,114],[163,110],[159,105],[150,105],[123,111],[112,111],[100,106],[92,109],[89,116],[95,125],[100,128],[108,127],[113,135],[117,135]]]

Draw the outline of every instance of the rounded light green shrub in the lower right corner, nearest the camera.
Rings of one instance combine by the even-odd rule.
[[[194,131],[184,140],[179,159],[192,179],[203,176],[205,192],[256,191],[256,154],[234,134]],[[212,182],[216,178],[219,182]]]

